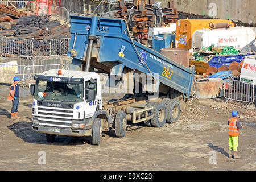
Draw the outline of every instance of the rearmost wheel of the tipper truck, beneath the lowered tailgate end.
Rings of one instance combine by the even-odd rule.
[[[170,100],[166,105],[167,123],[175,123],[180,117],[180,102],[177,100]]]

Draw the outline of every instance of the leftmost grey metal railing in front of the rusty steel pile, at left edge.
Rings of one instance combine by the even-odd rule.
[[[16,56],[32,56],[34,44],[32,40],[0,37],[0,54]]]

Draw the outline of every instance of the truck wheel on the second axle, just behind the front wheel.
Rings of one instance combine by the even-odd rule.
[[[115,136],[125,137],[126,127],[126,113],[125,111],[119,110],[117,111],[117,115],[115,115]]]

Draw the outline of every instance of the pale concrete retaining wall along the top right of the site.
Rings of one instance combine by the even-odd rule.
[[[167,0],[159,0],[167,7]],[[255,0],[175,0],[178,11],[235,22],[256,23]]]

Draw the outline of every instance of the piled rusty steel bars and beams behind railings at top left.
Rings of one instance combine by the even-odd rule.
[[[70,38],[69,28],[58,20],[50,21],[49,15],[38,16],[20,12],[15,7],[0,5],[0,36],[32,40],[33,47],[15,41],[2,41],[2,56],[49,56],[51,39]],[[19,46],[18,46],[19,45]],[[61,46],[61,44],[58,44]],[[55,46],[56,47],[56,46]]]

